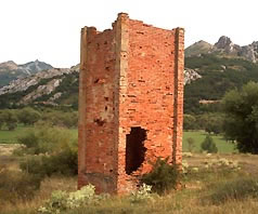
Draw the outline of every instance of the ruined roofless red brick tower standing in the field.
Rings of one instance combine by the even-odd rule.
[[[81,29],[78,187],[126,193],[150,162],[181,163],[184,30],[118,14]]]

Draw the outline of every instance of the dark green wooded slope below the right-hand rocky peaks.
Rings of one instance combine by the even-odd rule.
[[[258,64],[243,58],[203,54],[185,58],[185,67],[195,69],[201,79],[184,89],[184,112],[202,112],[199,101],[218,101],[231,89],[258,81]]]

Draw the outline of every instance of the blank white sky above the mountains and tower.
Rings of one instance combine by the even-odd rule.
[[[228,36],[258,41],[257,0],[0,0],[0,63],[79,63],[80,28],[112,27],[119,12],[156,27],[185,29],[185,46]]]

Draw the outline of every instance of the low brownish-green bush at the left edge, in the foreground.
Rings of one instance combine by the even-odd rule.
[[[40,187],[41,178],[15,171],[0,172],[0,201],[30,200]]]

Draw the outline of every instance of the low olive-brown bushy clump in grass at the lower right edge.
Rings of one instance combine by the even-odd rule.
[[[245,198],[258,198],[258,180],[254,178],[238,178],[231,183],[218,185],[210,196],[212,203],[224,203],[228,200],[243,200]]]

